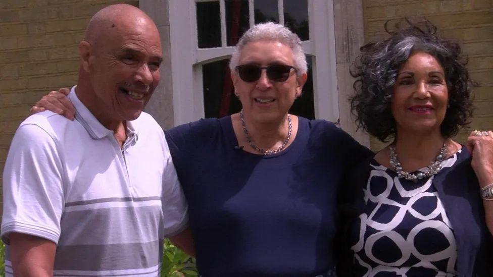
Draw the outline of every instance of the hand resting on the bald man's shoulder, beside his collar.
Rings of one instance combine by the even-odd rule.
[[[58,91],[50,91],[50,93],[44,95],[39,101],[36,102],[36,104],[34,104],[34,106],[31,107],[31,115],[44,112],[44,110],[51,110],[56,114],[73,120],[75,116],[75,107],[67,98],[69,92],[70,90],[68,88],[61,88]]]

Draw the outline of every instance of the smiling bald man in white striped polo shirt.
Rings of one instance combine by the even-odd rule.
[[[76,120],[32,115],[9,150],[6,275],[157,276],[165,237],[193,251],[165,136],[142,112],[159,82],[158,30],[133,6],[109,6],[79,53]]]

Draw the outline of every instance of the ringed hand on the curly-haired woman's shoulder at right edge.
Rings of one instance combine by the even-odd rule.
[[[471,166],[479,186],[482,188],[493,183],[493,132],[471,132],[466,147],[472,153]]]

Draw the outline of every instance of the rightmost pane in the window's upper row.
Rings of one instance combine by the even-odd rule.
[[[284,26],[296,33],[301,40],[310,39],[307,0],[284,0]]]

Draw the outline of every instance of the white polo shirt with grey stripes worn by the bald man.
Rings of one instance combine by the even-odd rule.
[[[55,242],[55,276],[160,275],[163,239],[187,226],[163,130],[142,113],[127,122],[120,148],[75,87],[69,99],[74,121],[43,112],[16,131],[3,177],[2,240],[17,232]]]

